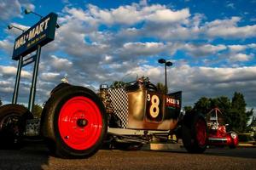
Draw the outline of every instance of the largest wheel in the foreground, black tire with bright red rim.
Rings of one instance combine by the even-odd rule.
[[[107,133],[102,101],[87,88],[59,90],[46,104],[42,130],[49,150],[56,156],[92,156]]]

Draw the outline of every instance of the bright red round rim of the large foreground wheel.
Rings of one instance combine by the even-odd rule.
[[[62,106],[58,125],[61,139],[69,147],[86,150],[101,136],[102,114],[93,100],[77,96]]]

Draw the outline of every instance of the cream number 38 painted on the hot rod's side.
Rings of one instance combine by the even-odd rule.
[[[157,116],[159,116],[160,113],[160,99],[157,95],[150,96],[150,94],[148,94],[147,100],[150,101],[149,114],[153,118],[156,118]]]

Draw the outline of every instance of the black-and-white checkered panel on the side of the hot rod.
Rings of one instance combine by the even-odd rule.
[[[122,128],[126,128],[128,123],[128,95],[123,88],[108,89],[108,94],[110,94],[113,114],[121,120]]]

